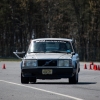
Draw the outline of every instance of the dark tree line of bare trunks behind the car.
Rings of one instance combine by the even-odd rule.
[[[81,60],[100,61],[100,0],[1,0],[0,57],[33,37],[73,38]]]

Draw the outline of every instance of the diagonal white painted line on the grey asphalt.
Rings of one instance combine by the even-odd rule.
[[[48,90],[44,90],[44,89],[40,89],[40,88],[36,88],[36,87],[26,86],[26,85],[23,85],[23,84],[9,82],[9,81],[5,81],[5,80],[0,80],[0,81],[1,82],[5,82],[5,83],[9,83],[9,84],[13,84],[13,85],[17,85],[17,86],[22,86],[22,87],[26,87],[26,88],[42,91],[42,92],[46,92],[46,93],[52,93],[52,94],[63,96],[63,97],[70,98],[70,99],[73,99],[73,100],[83,100],[81,98],[77,98],[77,97],[73,97],[73,96],[69,96],[69,95],[66,95],[66,94],[61,94],[61,93],[57,93],[57,92],[53,92],[53,91],[48,91]]]

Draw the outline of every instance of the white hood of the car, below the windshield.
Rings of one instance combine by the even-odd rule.
[[[71,59],[72,55],[67,53],[30,53],[25,59]]]

